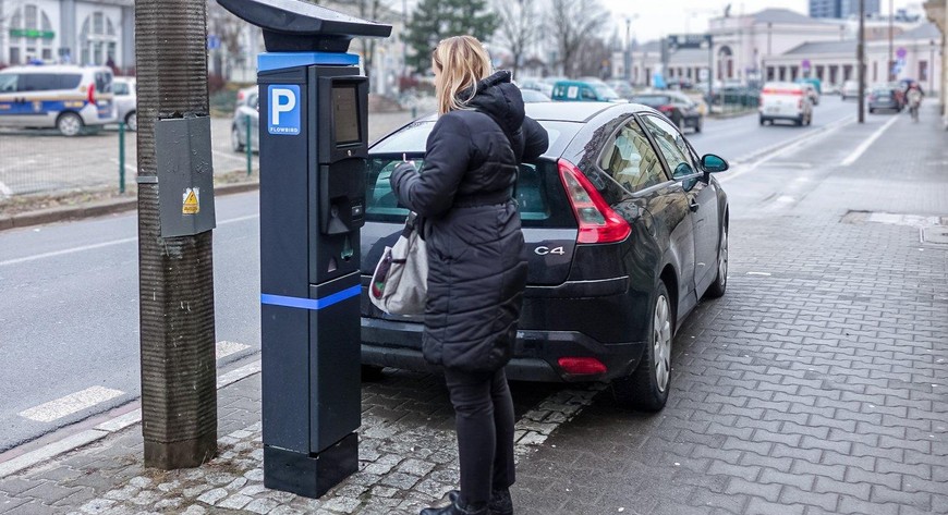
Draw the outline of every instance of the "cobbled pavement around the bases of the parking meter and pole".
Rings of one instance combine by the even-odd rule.
[[[600,388],[512,385],[516,453],[528,454]],[[443,381],[387,370],[363,388],[360,470],[319,500],[263,486],[259,375],[219,391],[219,455],[195,469],[142,465],[141,425],[0,479],[2,514],[415,514],[457,488]]]

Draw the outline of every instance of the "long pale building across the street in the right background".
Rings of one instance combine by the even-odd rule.
[[[874,39],[866,42],[866,77],[886,82],[889,64],[888,25],[882,33],[874,25]],[[856,41],[852,21],[814,20],[793,11],[767,9],[757,13],[712,20],[714,47],[683,49],[668,56],[667,79],[697,82],[714,70],[716,81],[746,83],[752,79],[793,81],[818,77],[828,84],[856,78]],[[943,38],[931,23],[894,24],[892,63],[896,78],[914,78],[924,89],[941,88]],[[901,56],[901,57],[898,57]],[[613,76],[624,77],[622,53],[612,59]],[[632,82],[651,85],[663,68],[661,46],[651,41],[632,51]]]

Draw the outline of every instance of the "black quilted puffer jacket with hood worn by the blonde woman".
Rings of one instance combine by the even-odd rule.
[[[421,172],[400,164],[391,186],[402,205],[426,220],[425,358],[463,370],[497,370],[513,352],[526,285],[511,194],[520,162],[537,158],[549,142],[524,115],[509,72],[481,81],[476,90],[471,110],[449,112],[435,124]]]

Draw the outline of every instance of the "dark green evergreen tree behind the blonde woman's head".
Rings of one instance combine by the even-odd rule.
[[[485,0],[421,0],[406,29],[405,42],[414,51],[409,63],[426,72],[441,39],[470,35],[483,41],[497,26],[497,15],[486,10]]]

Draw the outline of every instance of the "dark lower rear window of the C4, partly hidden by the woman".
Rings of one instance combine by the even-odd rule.
[[[415,165],[424,165],[420,155]],[[404,222],[409,210],[399,205],[391,189],[389,177],[394,168],[402,162],[402,155],[372,156],[368,160],[366,179],[365,218],[372,222]],[[563,228],[575,225],[569,206],[566,204],[559,172],[555,162],[540,159],[535,163],[523,163],[516,179],[515,197],[520,206],[523,226]]]

